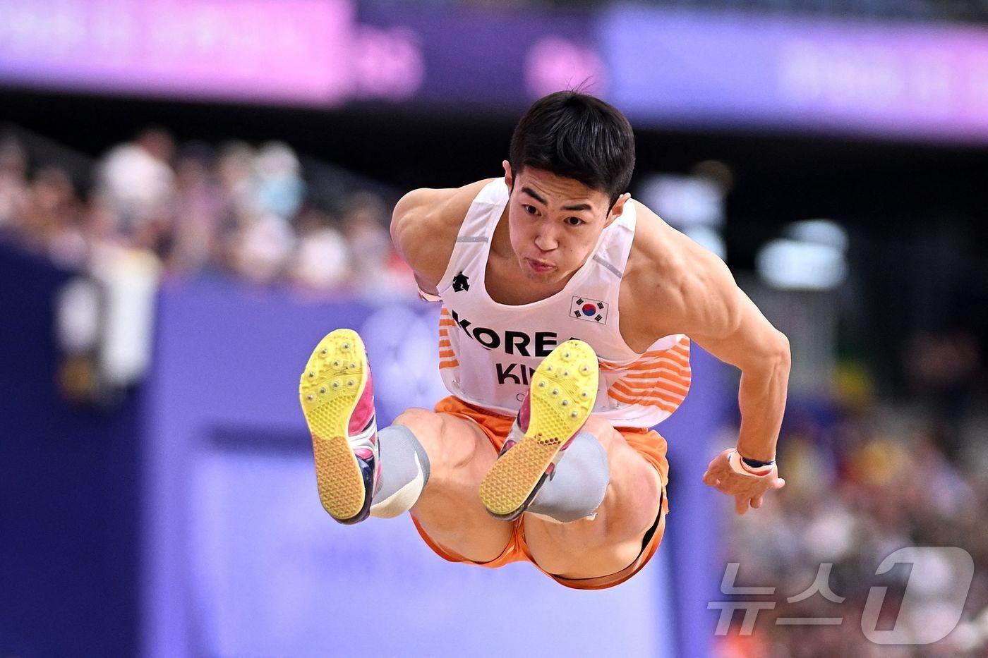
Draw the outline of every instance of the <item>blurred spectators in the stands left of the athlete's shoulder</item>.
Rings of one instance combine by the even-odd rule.
[[[166,278],[218,271],[316,295],[414,294],[388,235],[393,200],[320,192],[281,142],[176,145],[147,129],[73,178],[0,137],[0,239],[62,267],[124,250],[154,254]]]

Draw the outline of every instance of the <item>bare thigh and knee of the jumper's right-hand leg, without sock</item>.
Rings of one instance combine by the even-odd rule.
[[[611,481],[596,517],[558,523],[525,515],[525,538],[535,563],[564,578],[617,573],[638,557],[660,509],[661,480],[655,468],[627,445],[610,423],[591,416],[583,427],[607,452]],[[566,468],[566,459],[560,472]]]

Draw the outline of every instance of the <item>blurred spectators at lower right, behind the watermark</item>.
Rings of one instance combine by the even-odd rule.
[[[719,658],[988,656],[988,455],[976,440],[986,421],[968,415],[964,431],[975,440],[958,445],[935,415],[919,409],[790,404],[779,454],[786,485],[757,512],[735,515],[728,531],[728,559],[739,563],[735,585],[777,588],[773,596],[734,599],[775,607],[760,612],[750,635],[740,632],[736,613]],[[955,610],[949,601],[957,579],[962,583],[963,558],[936,554],[911,569],[900,564],[877,573],[885,557],[906,546],[962,548],[973,558],[974,579],[945,639],[875,644],[862,630],[872,587],[888,588],[877,630],[895,624],[918,638]],[[832,567],[821,571],[826,564]],[[818,576],[829,600],[811,588]],[[778,623],[780,617],[843,622]]]

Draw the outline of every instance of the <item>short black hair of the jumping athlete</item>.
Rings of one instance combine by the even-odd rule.
[[[634,133],[614,106],[576,91],[535,101],[511,135],[508,156],[517,176],[535,167],[607,194],[611,206],[634,171]]]

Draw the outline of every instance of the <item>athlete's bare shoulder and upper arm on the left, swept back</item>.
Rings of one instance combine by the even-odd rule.
[[[453,256],[466,210],[491,180],[461,188],[412,190],[394,206],[391,241],[423,291],[436,292]]]

